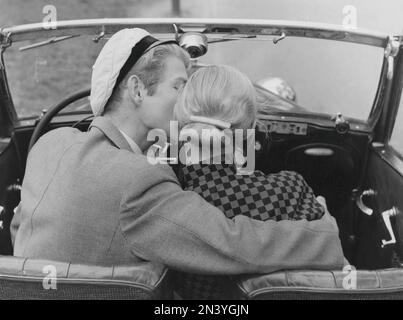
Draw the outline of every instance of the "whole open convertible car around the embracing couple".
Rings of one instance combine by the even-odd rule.
[[[350,266],[239,275],[234,299],[403,298],[403,37],[291,21],[167,18],[0,29],[0,299],[174,297],[171,270],[151,262],[105,267],[12,256],[9,227],[30,148],[49,130],[87,129],[92,64],[111,34],[133,27],[176,39],[194,69],[219,63],[246,73],[258,93],[256,169],[301,173],[338,223]]]

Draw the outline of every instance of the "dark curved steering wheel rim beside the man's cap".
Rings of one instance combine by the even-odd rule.
[[[29,140],[28,152],[31,150],[31,148],[33,147],[35,142],[38,141],[38,139],[41,137],[44,129],[46,128],[46,126],[50,123],[50,121],[53,119],[53,117],[56,114],[58,114],[60,111],[62,111],[64,108],[66,108],[71,103],[73,103],[77,100],[80,100],[82,98],[88,97],[90,95],[90,92],[91,92],[91,89],[77,91],[77,92],[69,95],[67,98],[63,99],[58,104],[51,107],[45,113],[45,115],[39,120],[38,124],[36,125],[35,130],[32,133],[31,140]]]

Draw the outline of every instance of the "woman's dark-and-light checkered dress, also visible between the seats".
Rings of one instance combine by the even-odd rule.
[[[257,220],[315,220],[324,214],[304,178],[292,171],[237,175],[234,165],[181,166],[177,175],[185,190],[201,195],[227,218],[245,215]],[[231,299],[229,277],[178,273],[177,291],[185,299]]]

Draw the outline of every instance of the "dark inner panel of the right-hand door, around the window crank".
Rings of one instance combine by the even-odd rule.
[[[360,269],[388,268],[396,256],[403,257],[403,171],[399,170],[402,161],[397,157],[392,160],[392,152],[380,147],[372,148],[369,154],[365,189],[372,189],[376,194],[365,199],[373,214],[359,212],[356,265]],[[396,244],[382,248],[382,240],[391,239],[382,212],[393,207],[398,212],[391,218]]]

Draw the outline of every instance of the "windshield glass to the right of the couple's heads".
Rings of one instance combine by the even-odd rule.
[[[201,60],[237,67],[253,82],[301,107],[293,111],[341,112],[366,120],[378,86],[383,50],[308,38],[286,38],[277,44],[247,40],[212,44]]]

